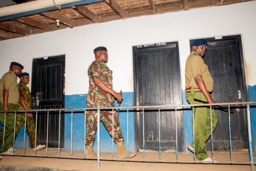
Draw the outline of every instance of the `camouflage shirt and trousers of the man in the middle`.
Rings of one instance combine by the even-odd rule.
[[[106,86],[113,89],[112,86],[112,71],[109,70],[105,63],[100,62],[96,59],[90,64],[88,68],[89,76],[89,91],[87,94],[87,107],[115,107],[114,97],[110,93],[101,90],[95,85],[93,79],[100,79]],[[100,120],[103,122],[105,128],[107,128],[109,134],[112,136],[114,133],[114,140],[116,143],[124,141],[119,119],[117,117],[116,110],[114,110],[112,117],[111,111],[100,111]],[[112,130],[112,120],[114,120],[114,130]],[[95,140],[95,133],[97,131],[97,110],[96,111],[86,111],[86,145],[93,145]]]

